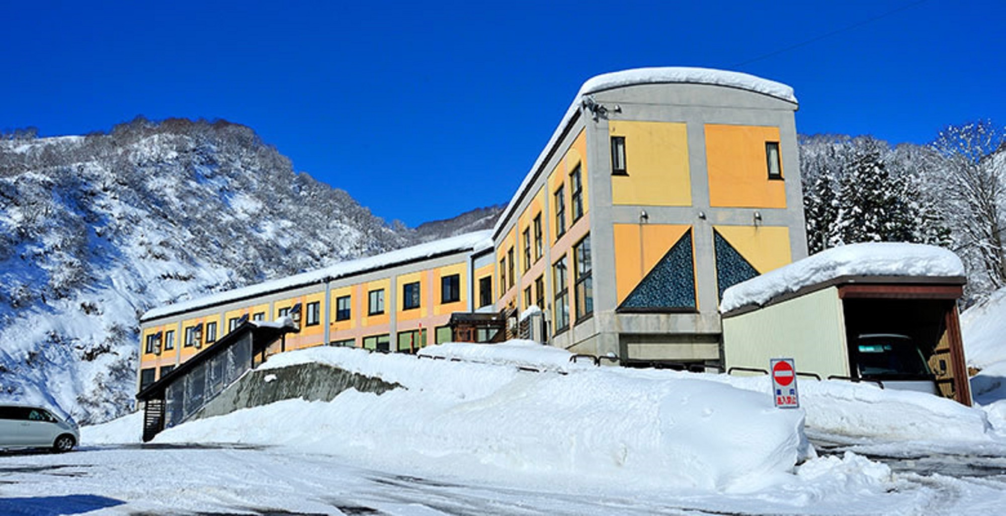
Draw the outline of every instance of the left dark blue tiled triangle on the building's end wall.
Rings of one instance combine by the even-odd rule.
[[[685,231],[664,257],[622,302],[620,309],[694,309],[695,267],[691,229]]]

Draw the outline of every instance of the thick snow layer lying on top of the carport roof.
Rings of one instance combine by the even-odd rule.
[[[726,289],[719,311],[762,306],[778,296],[843,276],[960,277],[953,251],[919,243],[853,243],[819,252]]]

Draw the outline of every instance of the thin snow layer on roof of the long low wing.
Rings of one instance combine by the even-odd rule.
[[[166,317],[181,312],[187,312],[189,310],[219,305],[228,301],[261,296],[269,292],[284,291],[297,287],[304,287],[306,285],[324,283],[367,271],[396,266],[413,260],[436,256],[447,252],[471,250],[477,245],[483,243],[489,235],[490,231],[488,229],[473,231],[470,233],[460,234],[458,236],[451,236],[449,238],[412,245],[411,247],[404,247],[389,252],[383,252],[375,256],[340,262],[339,264],[318,271],[302,273],[288,278],[283,278],[281,280],[274,280],[272,282],[213,294],[204,298],[155,308],[144,314],[143,317],[140,318],[140,321],[148,321],[150,319]]]

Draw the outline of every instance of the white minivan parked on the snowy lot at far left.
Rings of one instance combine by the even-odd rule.
[[[0,404],[0,449],[50,448],[69,452],[80,442],[76,423],[45,408]]]

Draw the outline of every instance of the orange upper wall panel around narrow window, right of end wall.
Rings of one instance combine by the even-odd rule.
[[[786,207],[785,181],[769,179],[766,142],[779,142],[778,127],[706,124],[705,161],[711,206]],[[782,163],[780,171],[786,177]]]

